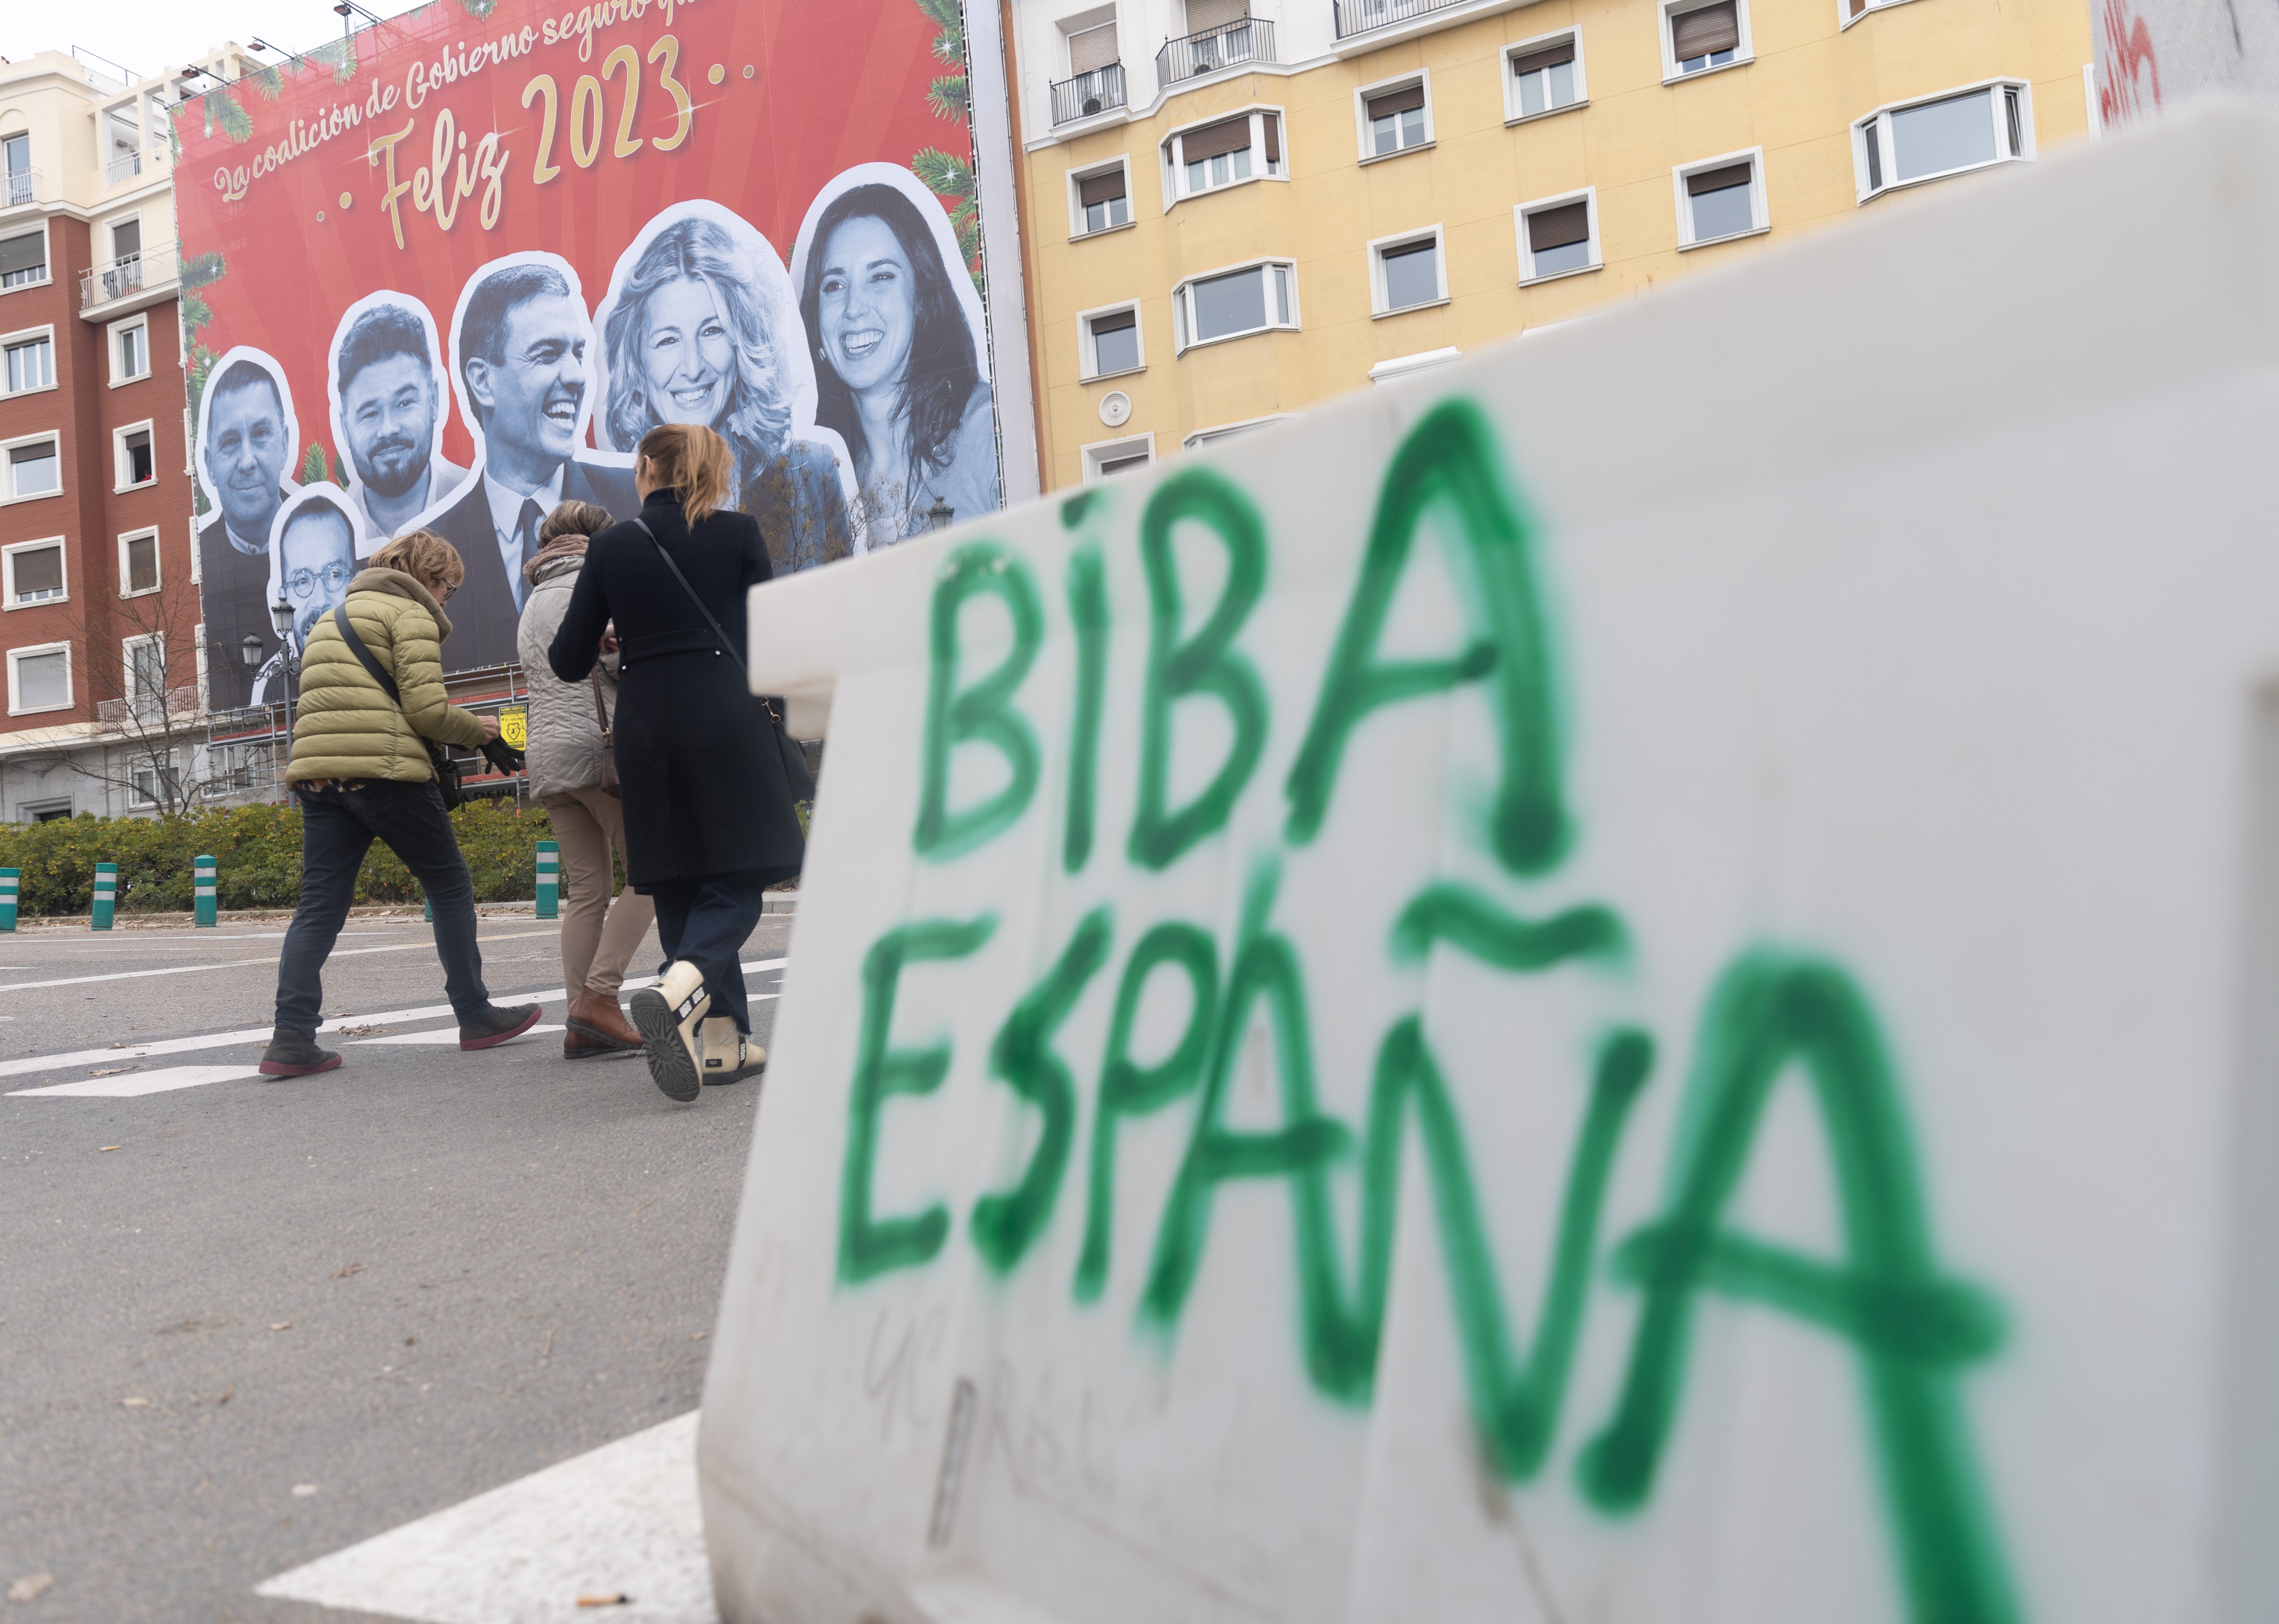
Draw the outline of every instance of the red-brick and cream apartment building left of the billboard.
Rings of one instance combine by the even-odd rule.
[[[0,61],[7,820],[166,811],[214,777],[166,107],[239,71]]]

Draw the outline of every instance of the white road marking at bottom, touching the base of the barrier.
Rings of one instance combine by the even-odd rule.
[[[422,1624],[718,1624],[695,1442],[691,1410],[278,1574],[253,1594]],[[631,1601],[579,1610],[577,1599],[593,1594]]]

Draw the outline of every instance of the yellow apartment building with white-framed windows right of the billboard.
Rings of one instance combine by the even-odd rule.
[[[1007,5],[1048,490],[2090,130],[2085,0]]]

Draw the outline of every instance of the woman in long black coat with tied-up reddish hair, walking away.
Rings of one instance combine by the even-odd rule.
[[[732,467],[711,428],[643,435],[640,519],[593,538],[547,649],[556,676],[586,681],[615,622],[624,877],[654,897],[670,959],[656,986],[634,993],[631,1014],[650,1075],[684,1102],[700,1080],[738,1082],[768,1059],[748,1043],[738,952],[761,893],[800,872],[807,852],[775,724],[745,686],[743,599],[770,567],[759,524],[720,508]]]

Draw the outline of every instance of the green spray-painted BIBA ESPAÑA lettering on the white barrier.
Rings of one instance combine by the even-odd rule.
[[[1087,868],[1101,818],[1098,749],[1108,702],[1112,615],[1108,553],[1117,544],[1105,492],[1064,503],[1083,528],[1069,553],[1067,606],[1076,654],[1069,720],[1069,781],[1060,870]],[[1445,519],[1445,563],[1470,640],[1443,658],[1381,656],[1386,620],[1427,519]],[[1210,538],[1226,558],[1217,601],[1185,631],[1187,583],[1174,528]],[[1240,649],[1267,579],[1269,535],[1258,508],[1228,478],[1194,469],[1160,483],[1128,535],[1149,604],[1146,683],[1140,695],[1140,761],[1126,859],[1140,875],[1178,863],[1226,831],[1258,763],[1272,715],[1265,683]],[[1534,526],[1506,487],[1486,417],[1452,401],[1433,408],[1395,451],[1367,549],[1308,727],[1283,781],[1285,850],[1324,829],[1340,763],[1354,733],[1381,708],[1445,702],[1461,683],[1484,683],[1495,715],[1500,781],[1484,815],[1484,845],[1506,877],[1543,879],[1575,840],[1563,784],[1552,626],[1538,585]],[[1014,640],[996,670],[959,686],[959,608],[991,592],[1012,613]],[[930,861],[973,854],[1005,836],[1042,777],[1037,731],[1021,688],[1044,640],[1044,599],[1028,567],[996,544],[953,553],[932,604],[932,674],[916,847]],[[1228,720],[1224,758],[1203,790],[1171,806],[1176,706],[1212,699]],[[975,806],[948,806],[948,763],[959,745],[1000,754],[1007,784]],[[1010,1187],[975,1200],[969,1235],[998,1276],[1012,1276],[1051,1235],[1089,1098],[1083,1241],[1069,1282],[1078,1305],[1098,1303],[1114,1273],[1121,1130],[1192,1098],[1185,1150],[1160,1194],[1153,1248],[1137,1280],[1137,1328],[1167,1346],[1206,1269],[1217,1196],[1237,1182],[1281,1182],[1290,1200],[1290,1278],[1299,1303],[1299,1360],[1329,1401],[1374,1401],[1379,1348],[1392,1289],[1399,1191],[1413,1141],[1429,1180],[1429,1209],[1454,1317],[1463,1389],[1481,1460],[1504,1481],[1534,1481],[1561,1433],[1570,1373],[1600,1273],[1602,1225],[1614,1168],[1634,1107],[1655,1071],[1643,1025],[1614,1023],[1591,1039],[1586,1082],[1563,1182],[1550,1223],[1550,1260],[1531,1332],[1509,1314],[1459,1091],[1431,1045],[1420,1011],[1383,1032],[1356,1127],[1320,1100],[1308,979],[1299,945],[1274,925],[1281,861],[1253,866],[1233,941],[1201,925],[1151,925],[1114,977],[1108,1041],[1087,1091],[1055,1039],[1105,986],[1117,952],[1108,907],[1092,909],[1057,959],[1023,993],[989,1048],[989,1071],[1032,1112],[1016,1130],[1035,1146]],[[848,1285],[941,1255],[948,1207],[877,1216],[871,1205],[880,1118],[893,1096],[925,1096],[950,1068],[946,1043],[893,1048],[902,968],[978,954],[991,918],[921,920],[887,932],[864,961],[864,1016],[848,1105],[841,1178],[839,1276]],[[1586,902],[1522,913],[1481,888],[1427,884],[1386,936],[1392,968],[1427,966],[1449,952],[1511,977],[1591,973],[1636,952],[1616,909]],[[1222,968],[1224,966],[1224,968]],[[1169,1052],[1133,1057],[1149,989],[1185,984],[1187,1011]],[[930,1007],[939,1007],[939,1000]],[[1251,1034],[1263,1027],[1263,1045]],[[1269,1057],[1274,1112],[1267,1125],[1235,1127],[1231,1093],[1247,1057]],[[1725,1225],[1766,1100],[1787,1073],[1812,1086],[1825,1130],[1841,1212],[1841,1262],[1823,1262]],[[1472,1080],[1470,1086],[1541,1086],[1536,1077]],[[1917,1624],[2012,1624],[2019,1615],[2008,1558],[1978,1474],[1962,1369],[2003,1339],[1999,1303],[1937,1264],[1923,1178],[1905,1093],[1867,993],[1816,957],[1743,950],[1716,982],[1677,1105],[1666,1207],[1627,1235],[1609,1260],[1616,1289],[1641,1296],[1614,1412],[1575,1458],[1575,1485],[1607,1517],[1639,1512],[1684,1401],[1693,1317],[1702,1294],[1816,1326],[1860,1367],[1867,1440],[1889,1519],[1894,1574]],[[1338,1223],[1351,1189],[1358,1223],[1351,1266]],[[1128,1194],[1124,1194],[1128,1203]]]

